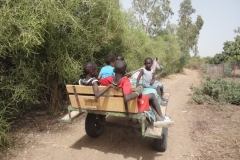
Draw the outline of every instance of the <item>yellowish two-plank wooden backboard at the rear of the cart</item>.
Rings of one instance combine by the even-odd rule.
[[[74,108],[79,108],[77,103],[78,99],[82,109],[126,112],[122,89],[115,90],[109,88],[103,96],[95,99],[92,86],[66,85],[66,88],[69,93],[71,106]],[[77,98],[73,88],[75,88]],[[99,86],[99,90],[103,88],[105,88],[105,86]],[[133,91],[135,91],[135,88],[133,88]],[[129,113],[138,113],[137,99],[128,101],[127,106]]]

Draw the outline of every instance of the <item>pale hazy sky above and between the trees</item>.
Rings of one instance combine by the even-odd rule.
[[[170,19],[177,24],[178,10],[183,0],[170,0],[174,15]],[[120,0],[124,9],[132,7],[132,0]],[[192,16],[193,22],[197,15],[204,21],[198,40],[200,57],[213,57],[223,51],[223,43],[234,41],[237,36],[234,29],[240,27],[240,0],[192,0],[192,7],[196,10]]]

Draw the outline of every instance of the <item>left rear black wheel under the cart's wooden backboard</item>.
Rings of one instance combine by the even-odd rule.
[[[85,130],[90,137],[98,137],[102,134],[105,122],[105,115],[88,113],[85,121]]]

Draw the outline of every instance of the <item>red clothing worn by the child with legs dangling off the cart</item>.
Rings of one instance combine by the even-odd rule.
[[[99,82],[101,85],[107,86],[112,83],[113,78],[114,78],[113,76],[109,76],[109,77],[101,79]],[[118,87],[122,88],[123,94],[131,94],[132,93],[132,85],[130,83],[130,80],[127,77],[123,77],[120,80],[120,82],[118,83]],[[138,105],[138,112],[141,112],[144,110],[150,110],[148,96],[143,94],[141,98],[138,98],[137,105]]]

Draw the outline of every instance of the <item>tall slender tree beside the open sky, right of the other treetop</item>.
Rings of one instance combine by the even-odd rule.
[[[184,0],[180,4],[177,36],[181,51],[185,54],[182,58],[183,63],[190,56],[190,50],[194,53],[194,56],[198,56],[198,37],[204,22],[200,15],[197,16],[195,23],[192,21],[191,15],[195,12],[191,0]]]

